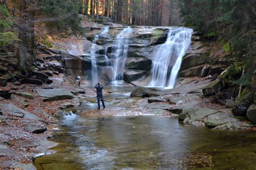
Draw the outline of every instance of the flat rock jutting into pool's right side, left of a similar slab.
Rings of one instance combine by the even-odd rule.
[[[207,108],[188,108],[184,109],[179,114],[179,121],[183,121],[185,124],[193,125],[194,122],[204,122],[204,118],[208,115],[212,115],[218,112],[218,110]]]

